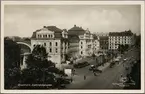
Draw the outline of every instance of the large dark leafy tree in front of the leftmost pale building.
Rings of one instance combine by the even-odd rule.
[[[55,86],[56,75],[65,75],[55,67],[55,64],[47,60],[48,53],[45,47],[36,45],[32,54],[26,60],[27,69],[22,71],[21,83],[22,84],[50,84]],[[43,86],[35,87],[20,87],[20,88],[50,88]],[[52,88],[52,87],[51,87]]]

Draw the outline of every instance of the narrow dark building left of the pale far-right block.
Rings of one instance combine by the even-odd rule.
[[[108,50],[108,36],[99,36],[100,51],[106,52]]]

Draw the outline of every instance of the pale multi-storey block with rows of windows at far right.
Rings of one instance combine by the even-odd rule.
[[[116,50],[119,45],[133,45],[133,33],[131,30],[109,33],[109,49]]]

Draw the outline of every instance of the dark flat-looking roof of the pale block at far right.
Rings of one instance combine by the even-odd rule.
[[[123,31],[123,32],[110,32],[109,36],[132,36],[133,33],[131,30]]]

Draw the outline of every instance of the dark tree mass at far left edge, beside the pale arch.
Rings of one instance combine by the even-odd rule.
[[[5,89],[12,89],[19,83],[20,77],[20,47],[8,39],[4,39],[4,78]]]

